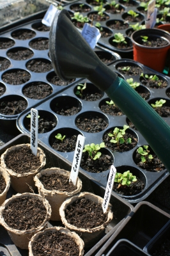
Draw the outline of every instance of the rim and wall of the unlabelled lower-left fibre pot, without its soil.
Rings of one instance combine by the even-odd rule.
[[[38,200],[40,200],[40,203],[44,205],[47,213],[46,213],[45,219],[42,221],[42,223],[38,227],[31,228],[28,230],[19,230],[17,228],[15,229],[15,228],[10,227],[4,221],[3,211],[6,209],[6,207],[8,207],[10,204],[12,204],[14,200],[24,198],[24,197],[38,198]],[[29,212],[28,212],[28,214],[29,214]],[[47,225],[47,221],[50,219],[50,214],[51,214],[51,208],[50,208],[49,202],[42,196],[31,194],[31,193],[17,194],[17,195],[12,196],[11,198],[7,199],[3,203],[3,205],[1,205],[1,207],[0,207],[0,222],[1,222],[1,225],[3,225],[3,227],[6,228],[6,230],[8,231],[8,234],[10,235],[13,243],[21,249],[27,249],[28,243],[29,243],[29,240],[31,239],[31,237],[36,232],[44,229],[45,226]],[[20,221],[18,221],[17,223],[19,225]],[[16,226],[18,227],[18,225],[16,225]]]

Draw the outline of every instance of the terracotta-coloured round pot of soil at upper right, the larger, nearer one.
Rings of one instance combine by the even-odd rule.
[[[160,47],[148,47],[143,45],[141,36],[148,36],[148,40],[164,39],[167,44]],[[131,35],[134,49],[134,60],[163,72],[166,63],[167,51],[170,48],[170,35],[161,29],[141,29]]]

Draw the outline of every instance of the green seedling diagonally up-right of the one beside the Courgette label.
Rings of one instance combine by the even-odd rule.
[[[110,140],[111,143],[117,143],[119,144],[123,144],[123,143],[131,143],[132,139],[131,138],[127,138],[127,140],[125,140],[125,138],[123,138],[123,136],[126,134],[126,130],[129,128],[128,125],[123,125],[123,129],[119,129],[118,127],[114,128],[113,133],[109,133],[108,136],[112,137],[112,140]]]

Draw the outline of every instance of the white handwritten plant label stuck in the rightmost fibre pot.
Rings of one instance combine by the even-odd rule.
[[[116,168],[112,165],[111,170],[109,172],[109,179],[107,180],[107,186],[105,188],[104,202],[102,204],[102,209],[104,213],[107,212],[107,209],[109,206],[115,175],[116,175]]]

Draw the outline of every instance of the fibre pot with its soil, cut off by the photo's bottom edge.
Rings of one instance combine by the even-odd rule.
[[[64,241],[66,240],[67,244],[69,244],[68,243],[69,238],[73,239],[73,241],[75,242],[75,244],[79,248],[79,254],[77,256],[84,255],[84,242],[82,241],[81,237],[79,237],[75,232],[70,232],[70,230],[68,230],[67,228],[63,228],[63,227],[54,227],[53,228],[52,227],[52,228],[45,228],[45,230],[40,231],[37,234],[35,234],[33,237],[31,237],[31,241],[29,241],[29,246],[28,246],[28,248],[29,248],[29,256],[34,256],[33,244],[35,242],[38,241],[38,243],[41,244],[41,239],[42,239],[43,236],[45,236],[45,235],[48,236],[48,233],[56,233],[56,232],[59,232],[61,235],[65,234],[66,237],[63,240]],[[61,241],[61,243],[62,242],[63,241]],[[63,246],[61,244],[56,244],[55,240],[53,241],[52,245],[53,244],[54,244],[54,246],[56,245],[55,247],[54,246],[52,247],[53,250],[58,249],[58,250],[62,251],[64,249],[66,249],[66,248],[64,248],[65,244],[63,244]],[[72,248],[68,247],[68,249],[69,249],[68,252],[65,252],[65,253],[66,254],[69,253],[69,255],[73,255],[73,252],[70,252],[70,250]],[[43,252],[44,252],[44,250],[46,250],[46,249],[43,249]],[[50,247],[48,247],[48,250],[50,252]],[[64,251],[66,251],[66,250],[64,250]],[[40,250],[39,250],[39,253],[40,253]],[[38,254],[38,255],[40,255],[40,254]]]

